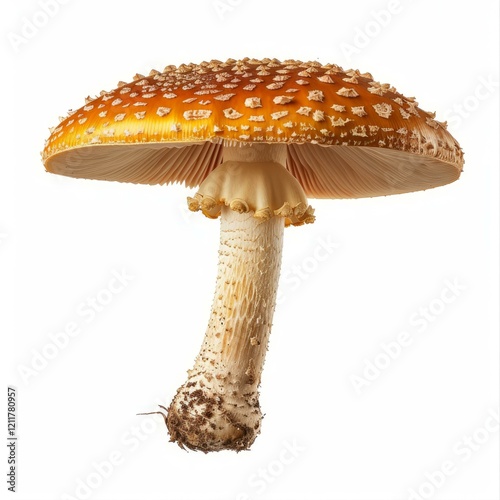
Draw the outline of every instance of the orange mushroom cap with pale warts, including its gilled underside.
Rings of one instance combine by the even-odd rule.
[[[71,111],[42,153],[71,177],[198,186],[239,143],[286,144],[311,198],[418,191],[458,179],[446,124],[369,73],[334,64],[230,59],[136,75]]]

